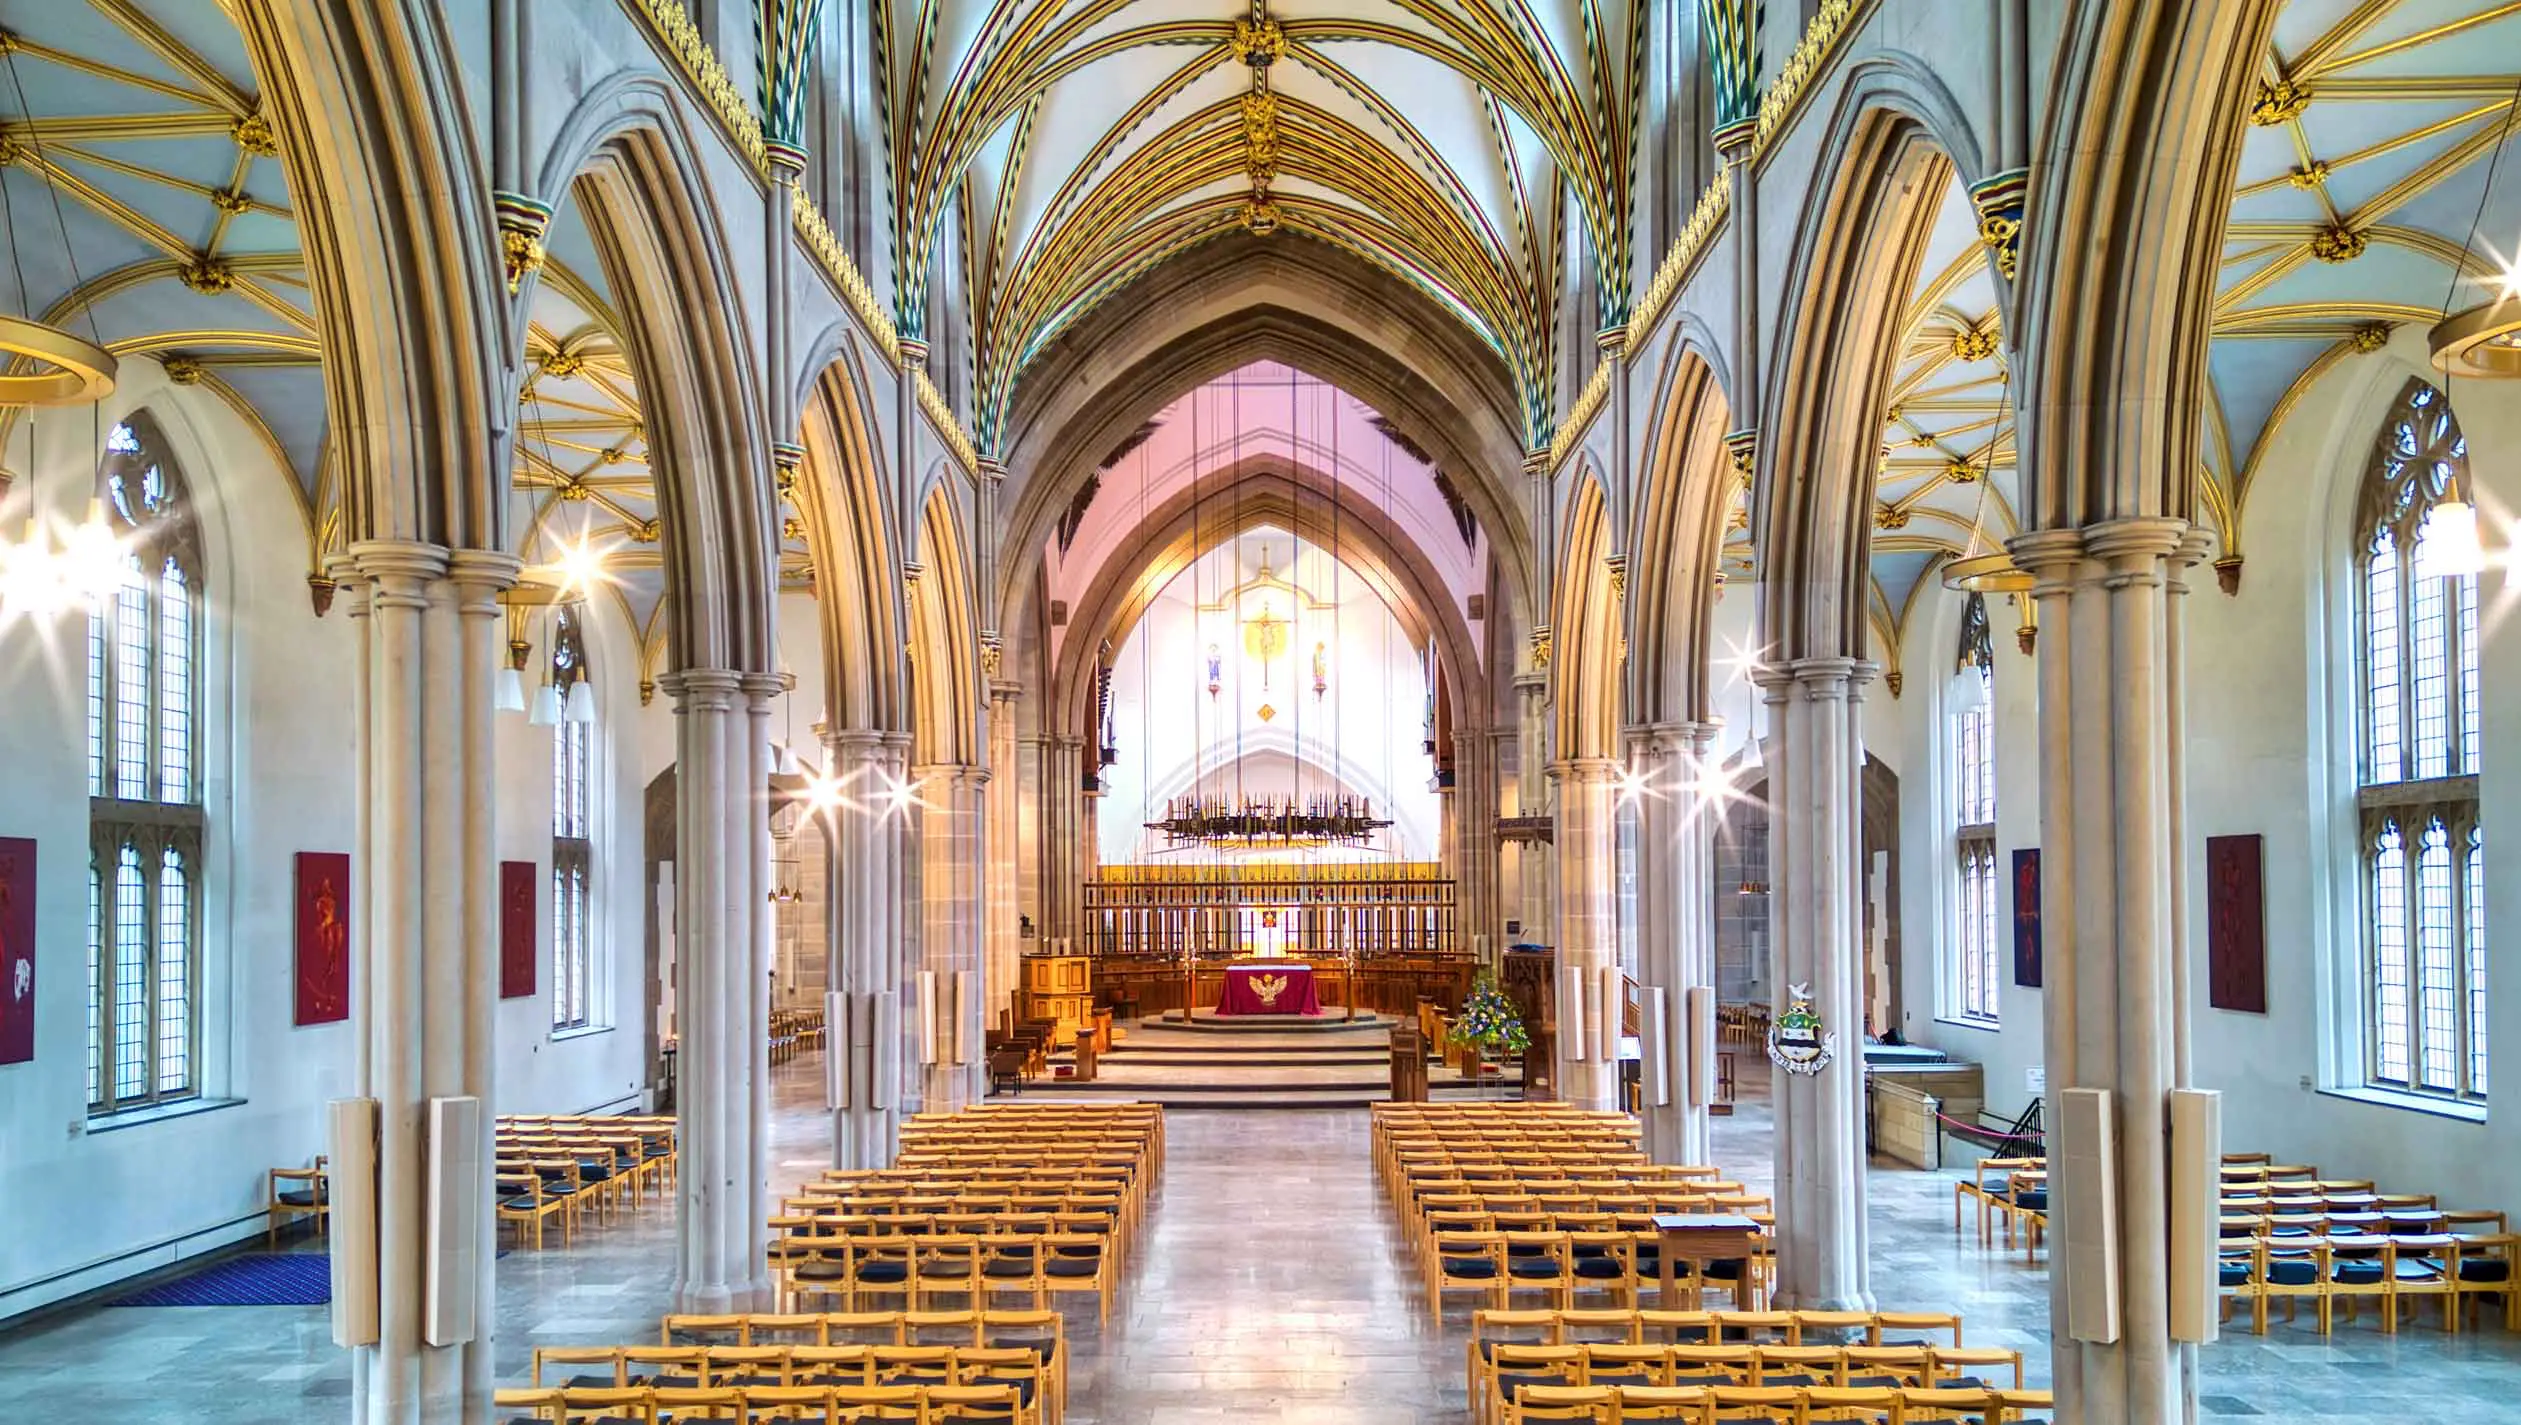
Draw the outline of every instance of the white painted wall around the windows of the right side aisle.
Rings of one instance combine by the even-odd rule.
[[[2196,1082],[2224,1092],[2224,1148],[2314,1163],[2339,1178],[2375,1178],[2387,1190],[2435,1193],[2445,1206],[2521,1211],[2521,1137],[2503,1117],[2521,1102],[2521,974],[2511,956],[2491,958],[2491,1034],[2498,1049],[2486,1122],[2362,1095],[2362,1067],[2347,1027],[2360,1021],[2360,923],[2355,860],[2345,835],[2352,787],[2352,701],[2337,686],[2352,676],[2345,618],[2352,605],[2347,530],[2380,419],[2408,376],[2425,376],[2423,333],[2408,330],[2372,356],[2322,376],[2276,426],[2259,457],[2259,489],[2246,504],[2239,595],[2218,593],[2196,570],[2188,595],[2186,792],[2188,830],[2188,991]],[[2488,530],[2491,567],[2481,578],[2483,759],[2478,772],[2488,883],[2488,943],[2511,913],[2506,888],[2521,883],[2521,847],[2498,827],[2521,822],[2521,578],[2503,565],[2521,512],[2521,411],[2496,388],[2463,383],[2453,406],[2468,434],[2471,474]],[[1908,633],[1908,696],[1898,736],[1911,757],[1936,757],[1941,683],[1951,668],[1959,598],[1934,593],[1924,631]],[[2501,610],[2501,613],[2498,613]],[[2012,648],[2009,610],[1997,620],[1997,842],[2037,845],[2037,749],[2029,658]],[[1921,789],[1911,777],[1903,789]],[[1941,794],[1941,792],[1939,792]],[[2007,989],[2002,1032],[1939,1021],[1926,946],[1941,943],[1949,913],[1949,858],[1936,855],[1949,812],[1934,797],[1903,797],[1901,845],[1908,875],[1903,926],[1911,946],[1908,1034],[1987,1064],[1992,1110],[2019,1110],[2022,1074],[2039,1064],[2039,991]],[[2266,837],[2269,1011],[2208,1006],[2206,989],[2206,837]],[[2012,888],[2004,893],[2007,921]],[[2060,928],[2050,926],[2050,948]]]

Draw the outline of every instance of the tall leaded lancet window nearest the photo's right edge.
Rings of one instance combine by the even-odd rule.
[[[2430,573],[2418,540],[2453,479],[2468,487],[2450,401],[2408,381],[2355,507],[2365,1072],[2483,1100],[2478,580]]]

